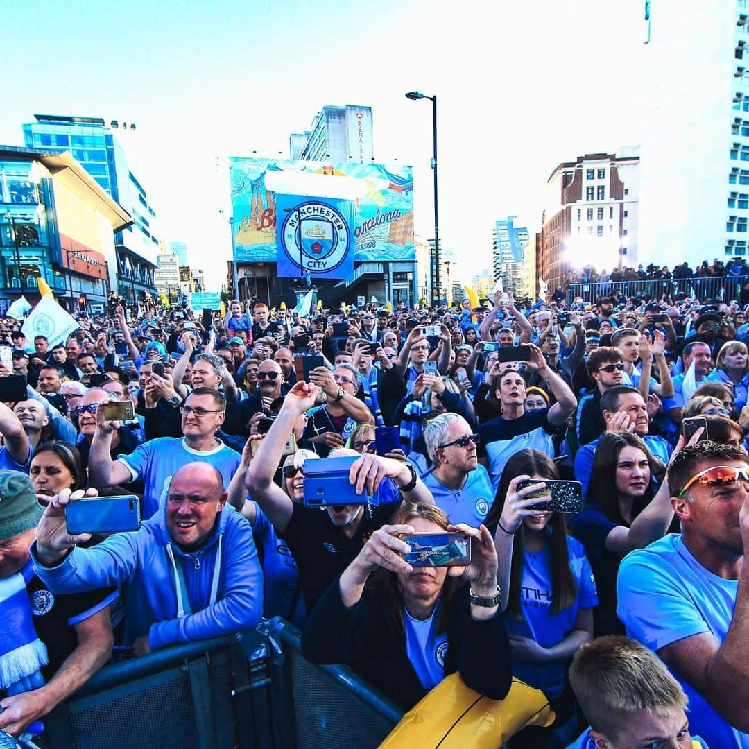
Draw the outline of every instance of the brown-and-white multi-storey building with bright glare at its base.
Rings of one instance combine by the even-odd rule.
[[[561,163],[546,184],[536,236],[536,278],[553,292],[568,272],[636,267],[640,156],[637,148]],[[664,221],[667,220],[664,217]]]

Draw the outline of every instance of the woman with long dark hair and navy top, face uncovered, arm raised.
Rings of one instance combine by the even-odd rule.
[[[690,444],[702,434],[697,429]],[[684,446],[679,437],[671,459]],[[653,496],[651,476],[655,461],[637,434],[606,432],[598,442],[592,480],[583,512],[574,517],[574,536],[585,554],[598,587],[598,607],[593,611],[595,636],[625,634],[616,617],[616,574],[619,562],[633,549],[645,548],[668,533],[673,507],[664,479]],[[675,529],[678,532],[678,528]]]

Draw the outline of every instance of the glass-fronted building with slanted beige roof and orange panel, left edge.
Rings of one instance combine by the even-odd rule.
[[[103,312],[130,215],[70,154],[0,146],[0,313],[44,279],[68,310]]]

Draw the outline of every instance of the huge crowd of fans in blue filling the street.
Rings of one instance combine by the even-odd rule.
[[[404,710],[455,672],[539,688],[554,725],[511,748],[749,747],[738,300],[79,324],[50,345],[0,320],[0,393],[23,378],[0,402],[0,730],[113,658],[282,616]],[[539,509],[559,481],[581,509]],[[71,505],[122,495],[139,530],[68,532]],[[470,560],[407,561],[445,532]]]

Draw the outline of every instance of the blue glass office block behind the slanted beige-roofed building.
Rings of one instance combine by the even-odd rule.
[[[67,115],[34,115],[23,125],[27,148],[53,153],[68,151],[111,197],[124,207],[132,222],[115,236],[116,262],[109,267],[109,284],[135,305],[156,291],[154,268],[159,249],[156,213],[148,193],[128,162],[124,143],[135,126],[103,118]],[[127,133],[127,135],[125,134]],[[127,145],[127,144],[126,144]]]

